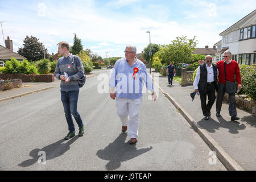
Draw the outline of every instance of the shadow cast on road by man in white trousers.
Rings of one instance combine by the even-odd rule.
[[[109,160],[106,164],[107,170],[118,169],[121,166],[121,162],[133,159],[139,155],[142,155],[150,151],[150,148],[141,148],[137,150],[136,144],[125,143],[127,133],[121,133],[113,143],[110,143],[104,150],[98,150],[97,156],[104,160]]]

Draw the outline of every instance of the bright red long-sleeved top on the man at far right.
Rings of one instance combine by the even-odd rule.
[[[232,81],[235,82],[234,76],[236,75],[237,78],[237,83],[241,84],[241,75],[240,75],[240,68],[237,63],[237,61],[231,60],[231,63],[226,64],[226,80],[227,81]],[[224,60],[218,61],[217,62],[217,68],[218,68],[218,82],[221,84],[226,84],[225,81],[225,72],[224,72]]]

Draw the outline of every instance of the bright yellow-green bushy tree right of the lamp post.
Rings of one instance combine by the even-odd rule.
[[[162,64],[168,65],[170,61],[177,67],[180,63],[190,63],[192,61],[192,52],[196,48],[196,36],[193,39],[187,39],[187,36],[177,37],[171,44],[160,47],[155,53],[162,60]]]

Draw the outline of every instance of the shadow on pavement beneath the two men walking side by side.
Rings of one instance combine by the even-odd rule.
[[[220,127],[229,129],[229,133],[238,134],[238,130],[244,130],[246,128],[245,125],[240,125],[240,122],[237,121],[226,121],[222,117],[218,117],[218,122],[213,118],[209,118],[209,120],[201,119],[201,121],[197,122],[203,129],[209,131],[210,133],[215,133],[215,130],[218,130]]]

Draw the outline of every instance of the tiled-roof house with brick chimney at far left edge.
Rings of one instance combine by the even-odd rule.
[[[11,60],[11,57],[14,57],[18,61],[23,61],[23,59],[26,59],[26,57],[23,57],[19,55],[16,52],[13,52],[13,40],[10,40],[8,37],[7,40],[5,40],[6,47],[3,47],[0,45],[0,67],[5,66],[6,60]]]

